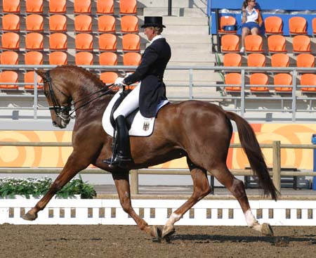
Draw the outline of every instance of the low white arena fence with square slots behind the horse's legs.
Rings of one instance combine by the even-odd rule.
[[[103,224],[135,225],[119,200],[58,200],[53,199],[39,212],[35,221],[25,221],[22,214],[38,200],[0,200],[0,224]],[[132,200],[136,213],[150,225],[164,225],[171,212],[185,200]],[[316,226],[316,201],[312,200],[252,200],[252,212],[260,223],[272,226]],[[237,200],[201,200],[176,225],[246,226]]]

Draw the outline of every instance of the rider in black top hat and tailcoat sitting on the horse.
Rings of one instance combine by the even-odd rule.
[[[162,79],[171,58],[171,49],[161,34],[165,27],[162,25],[162,17],[145,17],[142,27],[145,28],[144,33],[150,44],[143,53],[140,65],[133,74],[125,78],[119,77],[115,81],[115,84],[121,85],[140,83],[124,98],[113,114],[117,127],[117,155],[103,160],[112,166],[125,167],[126,163],[131,161],[125,117],[138,107],[143,117],[154,117],[157,105],[167,99],[166,86]]]

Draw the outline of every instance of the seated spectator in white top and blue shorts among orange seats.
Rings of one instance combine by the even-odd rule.
[[[246,0],[242,3],[242,49],[244,53],[244,38],[249,33],[259,34],[260,27],[263,25],[261,13],[255,8],[256,0]]]

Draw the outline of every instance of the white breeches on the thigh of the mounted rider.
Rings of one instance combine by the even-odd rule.
[[[119,108],[115,110],[113,113],[114,120],[117,119],[119,115],[124,115],[124,117],[128,116],[139,107],[139,90],[140,83],[126,96],[126,98],[124,98],[121,105],[119,105]]]

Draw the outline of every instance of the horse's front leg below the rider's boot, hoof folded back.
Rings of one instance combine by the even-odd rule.
[[[129,185],[129,171],[126,172],[112,172],[115,186],[117,187],[117,193],[119,195],[119,201],[124,212],[129,214],[136,222],[138,228],[145,233],[150,234],[154,238],[161,237],[161,231],[157,226],[148,226],[147,222],[140,218],[131,206],[131,191]]]

